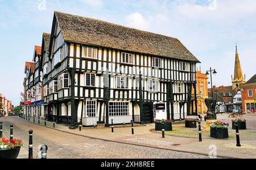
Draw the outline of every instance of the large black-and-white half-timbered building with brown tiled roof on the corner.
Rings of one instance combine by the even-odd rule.
[[[70,128],[184,119],[196,102],[200,61],[176,38],[55,12],[48,59],[48,112]]]

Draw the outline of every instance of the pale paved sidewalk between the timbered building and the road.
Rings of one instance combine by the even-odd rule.
[[[30,119],[30,122],[32,121]],[[38,122],[35,121],[35,123]],[[40,120],[40,125],[44,126],[44,121]],[[179,125],[174,125],[174,128],[175,126]],[[52,123],[47,122],[47,127],[53,128]],[[131,135],[131,127],[115,127],[114,133],[111,132],[111,128],[82,128],[82,131],[79,131],[79,128],[69,130],[67,126],[56,125],[55,129],[80,136],[164,150],[209,155],[209,152],[212,153],[211,151],[216,148],[218,157],[256,158],[256,139],[241,140],[242,146],[236,147],[235,139],[203,139],[203,142],[198,142],[197,138],[170,135],[162,138],[162,134],[152,130],[154,124],[134,127],[135,135]]]

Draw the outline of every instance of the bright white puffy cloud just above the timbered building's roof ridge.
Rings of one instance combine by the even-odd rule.
[[[126,16],[126,24],[129,27],[137,28],[139,30],[148,31],[150,29],[150,23],[140,13],[133,13]]]

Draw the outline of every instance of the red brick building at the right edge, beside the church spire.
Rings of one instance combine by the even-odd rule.
[[[246,113],[256,113],[256,74],[241,85],[242,106]]]

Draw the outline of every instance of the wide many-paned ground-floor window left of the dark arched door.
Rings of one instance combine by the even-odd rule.
[[[109,115],[129,115],[129,102],[109,102]]]

